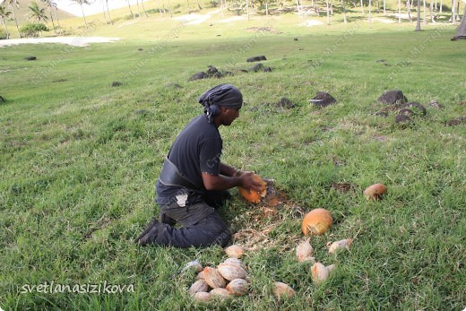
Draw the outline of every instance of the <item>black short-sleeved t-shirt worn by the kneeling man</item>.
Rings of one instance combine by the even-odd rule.
[[[221,150],[219,129],[213,123],[208,123],[204,115],[200,115],[194,117],[178,134],[168,152],[168,159],[194,185],[203,185],[203,172],[214,176],[220,174]],[[182,189],[181,186],[166,186],[157,181],[157,203],[167,203]],[[193,189],[196,194],[205,191],[204,187]]]

